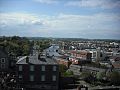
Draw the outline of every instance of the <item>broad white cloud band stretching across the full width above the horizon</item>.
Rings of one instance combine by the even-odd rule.
[[[83,35],[90,37],[113,34],[118,36],[118,32],[120,32],[119,23],[119,15],[111,13],[94,15],[62,13],[56,16],[0,13],[2,33],[22,32],[25,35],[34,34],[34,36],[79,37],[79,35]],[[19,32],[15,32],[15,30],[19,30]]]

